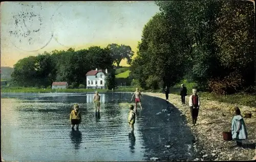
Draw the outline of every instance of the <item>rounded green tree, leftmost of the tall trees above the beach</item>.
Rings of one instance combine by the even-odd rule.
[[[184,59],[176,35],[179,34],[161,13],[144,26],[138,57],[132,62],[133,75],[142,88],[160,88],[157,83],[161,81],[172,86],[182,78]]]

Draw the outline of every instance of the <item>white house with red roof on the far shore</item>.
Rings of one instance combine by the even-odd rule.
[[[105,89],[105,77],[108,74],[108,69],[88,71],[86,73],[86,88],[87,89]]]

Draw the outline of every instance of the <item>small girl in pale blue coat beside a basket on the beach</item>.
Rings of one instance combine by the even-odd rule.
[[[235,111],[231,125],[232,139],[237,141],[237,146],[242,146],[242,140],[246,140],[248,134],[240,109],[235,107]]]

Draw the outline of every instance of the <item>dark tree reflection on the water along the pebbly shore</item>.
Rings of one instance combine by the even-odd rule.
[[[184,116],[180,116],[179,110],[161,98],[147,97],[145,105],[147,108],[154,107],[155,109],[143,110],[142,117],[140,117],[141,123],[146,123],[138,129],[142,133],[144,146],[146,146],[145,152],[149,153],[144,154],[144,157],[150,159],[157,155],[166,160],[165,154],[162,149],[159,149],[159,146],[170,145],[168,151],[172,160],[193,159],[193,151],[187,149],[188,145],[193,145],[193,136],[189,127],[184,125],[186,119]]]

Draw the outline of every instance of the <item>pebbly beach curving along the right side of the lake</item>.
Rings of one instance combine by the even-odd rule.
[[[165,99],[165,94],[162,93],[142,94]],[[192,126],[188,97],[186,96],[186,105],[182,105],[179,95],[169,94],[169,102],[185,115],[188,126],[197,139],[194,148],[198,151],[199,157],[195,160],[252,160],[256,154],[256,107],[238,105],[242,113],[246,110],[252,113],[252,118],[244,118],[248,131],[248,140],[243,143],[249,145],[246,145],[247,147],[245,148],[230,148],[235,145],[235,142],[224,141],[222,132],[231,128],[232,116],[229,114],[229,109],[234,105],[200,97],[201,106],[198,125]]]

